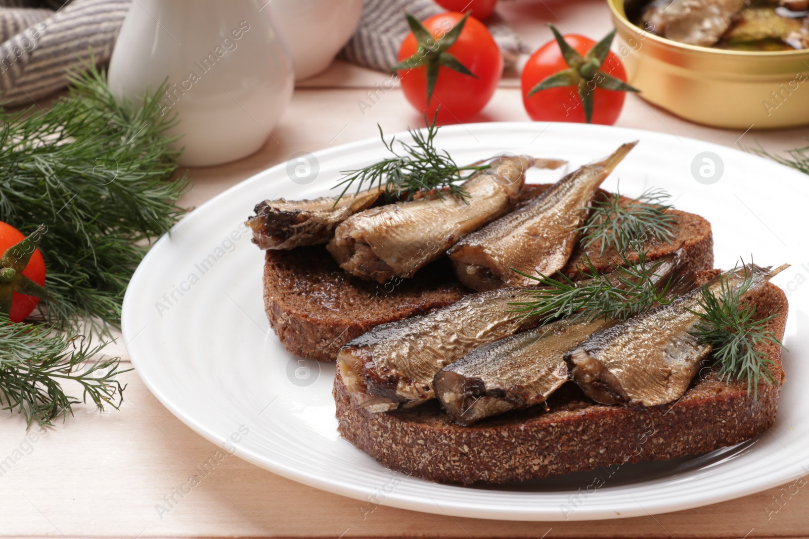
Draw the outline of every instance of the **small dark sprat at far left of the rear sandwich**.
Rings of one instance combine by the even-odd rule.
[[[354,213],[370,208],[384,191],[375,187],[356,195],[323,196],[314,200],[265,200],[248,218],[252,242],[261,249],[293,249],[327,243],[334,229]],[[337,203],[337,204],[335,204]]]

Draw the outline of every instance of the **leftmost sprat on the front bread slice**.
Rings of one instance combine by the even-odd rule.
[[[539,323],[510,310],[531,291],[501,288],[470,294],[430,314],[376,326],[346,344],[337,367],[358,406],[371,412],[407,408],[434,398],[433,379],[475,348]]]

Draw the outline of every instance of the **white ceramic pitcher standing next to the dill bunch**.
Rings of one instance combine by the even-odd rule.
[[[135,103],[167,79],[183,166],[210,166],[260,149],[289,104],[289,50],[261,0],[132,2],[112,52],[113,95]]]

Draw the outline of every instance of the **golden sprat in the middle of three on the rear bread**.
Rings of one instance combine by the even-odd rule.
[[[362,279],[412,277],[460,238],[514,208],[533,164],[527,156],[494,159],[461,185],[466,200],[429,196],[366,209],[337,225],[328,251]]]

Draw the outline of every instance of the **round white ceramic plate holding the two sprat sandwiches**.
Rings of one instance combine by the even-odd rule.
[[[614,190],[620,178],[621,192],[629,195],[646,187],[667,189],[678,208],[713,224],[718,267],[751,253],[757,263],[793,264],[774,281],[790,293],[787,382],[776,423],[758,440],[701,457],[624,465],[598,489],[591,485],[603,470],[500,487],[436,484],[387,470],[342,440],[331,395],[334,368],[290,355],[269,330],[263,253],[240,224],[259,200],[327,193],[339,171],[383,156],[378,138],[318,152],[319,172],[305,185],[290,178],[301,182],[294,167],[303,166],[298,174],[305,175],[306,163],[274,166],[197,208],[171,237],[161,238],[135,272],[124,301],[132,362],[152,393],[205,438],[276,474],[364,500],[368,511],[383,503],[503,520],[605,519],[677,511],[790,482],[809,472],[809,178],[724,146],[583,124],[446,127],[438,145],[459,163],[509,151],[564,158],[573,167],[633,140],[640,144],[605,188]],[[708,156],[714,179],[718,161],[723,163],[715,183],[697,182],[692,173],[697,158],[697,175],[700,166],[711,174],[703,152],[714,154]],[[559,176],[530,171],[528,181]]]

